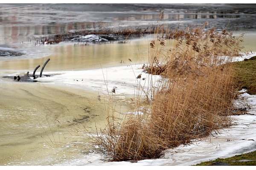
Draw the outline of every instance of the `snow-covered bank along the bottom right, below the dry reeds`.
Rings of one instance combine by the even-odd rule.
[[[241,97],[251,105],[251,115],[231,116],[236,122],[229,128],[216,130],[204,139],[195,139],[189,145],[180,145],[174,149],[166,150],[160,159],[146,159],[137,162],[105,162],[99,154],[84,156],[84,159],[70,162],[66,165],[193,165],[202,161],[227,158],[255,150],[256,148],[256,95],[247,93]],[[253,115],[254,114],[254,115]]]

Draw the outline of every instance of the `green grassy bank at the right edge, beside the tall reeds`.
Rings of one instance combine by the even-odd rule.
[[[235,64],[235,81],[238,90],[247,89],[250,95],[256,94],[256,56]]]

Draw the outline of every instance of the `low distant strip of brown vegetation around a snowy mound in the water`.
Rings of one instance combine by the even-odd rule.
[[[160,20],[163,18],[163,12],[160,11]],[[35,45],[41,44],[58,44],[62,41],[75,41],[86,43],[106,43],[118,41],[119,43],[125,43],[126,40],[133,39],[134,37],[142,37],[144,35],[155,34],[161,32],[166,39],[177,39],[183,37],[186,30],[175,29],[171,30],[169,26],[152,25],[147,28],[122,28],[122,29],[84,29],[84,30],[71,30],[67,33],[52,34],[41,37]],[[95,38],[84,37],[95,36]],[[86,45],[86,44],[85,44]]]

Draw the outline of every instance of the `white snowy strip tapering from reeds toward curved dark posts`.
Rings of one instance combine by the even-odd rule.
[[[54,71],[44,72],[50,74],[50,77],[38,77],[39,82],[61,83],[83,89],[101,91],[103,93],[111,92],[116,87],[116,94],[132,95],[134,89],[140,82],[143,89],[149,88],[150,78],[143,72],[142,65],[127,65],[113,68],[102,68],[83,71]],[[141,74],[141,78],[138,75]],[[160,76],[152,76],[155,82]]]

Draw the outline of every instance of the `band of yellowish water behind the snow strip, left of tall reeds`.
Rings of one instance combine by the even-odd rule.
[[[132,64],[145,63],[148,56],[148,41],[146,40],[125,44],[84,45],[81,43],[79,45],[49,45],[46,48],[48,47],[51,47],[53,54],[47,58],[3,61],[0,62],[0,68],[32,73],[36,66],[42,67],[44,62],[50,58],[44,71],[84,70],[130,65],[128,59],[132,60]]]

